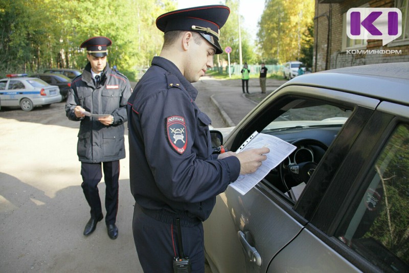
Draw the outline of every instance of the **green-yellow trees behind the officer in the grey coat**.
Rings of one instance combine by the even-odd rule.
[[[0,76],[50,67],[82,69],[87,60],[79,45],[92,36],[112,40],[108,62],[120,71],[148,66],[163,43],[155,19],[176,9],[176,4],[176,0],[0,0]]]

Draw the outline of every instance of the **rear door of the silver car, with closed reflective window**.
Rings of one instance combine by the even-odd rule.
[[[409,271],[408,117],[405,105],[379,104],[308,225],[273,259],[272,271],[288,268],[283,261],[292,255],[305,257],[304,264],[293,261],[305,271],[331,256],[366,272]]]

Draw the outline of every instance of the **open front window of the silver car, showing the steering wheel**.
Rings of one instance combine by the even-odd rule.
[[[281,115],[261,132],[274,135],[297,148],[264,181],[295,203],[353,108],[293,99],[275,110]]]

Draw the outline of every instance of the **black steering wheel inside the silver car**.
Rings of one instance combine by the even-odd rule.
[[[327,151],[328,149],[328,146],[326,144],[314,139],[297,140],[291,144],[297,146],[296,151],[298,151],[301,147],[308,146],[316,146],[323,149],[324,151]],[[294,153],[290,155],[290,158],[294,158]],[[289,161],[289,158],[286,158],[286,160],[279,164],[278,168],[280,180],[284,188],[289,191],[291,187],[297,186],[303,182],[307,184],[318,163],[319,162],[315,162],[314,160],[296,163],[291,162]]]

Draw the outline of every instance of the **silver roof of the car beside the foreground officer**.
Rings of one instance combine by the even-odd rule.
[[[282,87],[288,85],[324,87],[409,104],[409,62],[359,65],[304,74]]]

